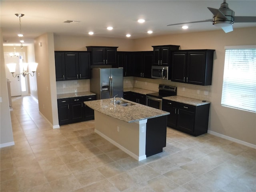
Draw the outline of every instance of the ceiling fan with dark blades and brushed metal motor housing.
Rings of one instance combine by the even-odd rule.
[[[189,24],[189,23],[200,23],[200,22],[212,22],[214,26],[221,27],[224,32],[228,33],[233,31],[233,23],[250,23],[256,22],[256,16],[234,16],[235,12],[228,8],[226,0],[223,1],[219,9],[207,7],[212,12],[212,19],[202,21],[192,21],[186,23],[176,23],[172,25]]]

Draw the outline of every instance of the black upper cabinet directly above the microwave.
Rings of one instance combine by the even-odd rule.
[[[170,66],[171,51],[179,50],[179,45],[160,45],[154,48],[153,65]]]

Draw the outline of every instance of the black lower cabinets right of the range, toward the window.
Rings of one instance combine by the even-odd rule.
[[[210,104],[192,106],[163,99],[162,110],[170,112],[168,127],[193,136],[207,133]]]

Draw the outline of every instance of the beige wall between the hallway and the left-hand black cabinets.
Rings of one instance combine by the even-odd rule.
[[[39,42],[42,42],[42,46],[38,46]],[[38,62],[36,75],[39,111],[55,128],[59,123],[53,33],[46,33],[34,39],[34,48]]]

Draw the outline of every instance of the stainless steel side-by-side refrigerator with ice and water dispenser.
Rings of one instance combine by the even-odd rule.
[[[97,99],[123,97],[123,68],[92,68],[90,91]]]

